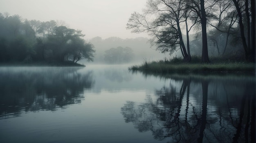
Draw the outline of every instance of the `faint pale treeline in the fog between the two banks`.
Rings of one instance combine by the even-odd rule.
[[[160,60],[164,59],[168,54],[162,54],[155,51],[155,47],[151,47],[148,39],[145,37],[121,39],[119,37],[109,37],[102,39],[101,37],[94,37],[90,42],[97,49],[94,58],[95,63],[136,63],[146,60]],[[151,48],[150,48],[151,47]],[[118,56],[121,53],[125,56]],[[113,57],[110,58],[110,56]]]

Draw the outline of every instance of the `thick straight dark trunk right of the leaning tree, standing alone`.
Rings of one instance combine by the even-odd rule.
[[[204,0],[200,0],[201,5],[201,24],[202,24],[202,63],[210,63],[209,55],[208,55],[208,46],[207,46],[207,33],[206,33],[206,13],[204,9]]]

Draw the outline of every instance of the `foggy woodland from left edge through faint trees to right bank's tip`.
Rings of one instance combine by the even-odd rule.
[[[143,59],[162,59],[147,38],[94,37],[85,41],[81,30],[51,20],[23,19],[0,13],[0,63],[78,62],[122,64]]]

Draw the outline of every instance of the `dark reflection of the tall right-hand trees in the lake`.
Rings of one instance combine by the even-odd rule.
[[[126,123],[171,143],[254,143],[254,76],[249,80],[232,76],[165,78],[171,78],[170,87],[157,89],[156,100],[147,95],[146,102],[128,101],[121,108]],[[179,81],[182,85],[177,89],[173,82]]]

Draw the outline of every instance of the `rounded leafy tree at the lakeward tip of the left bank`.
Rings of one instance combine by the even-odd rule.
[[[52,51],[52,58],[56,61],[70,61],[70,56],[74,63],[85,58],[93,61],[94,46],[86,43],[81,37],[81,30],[74,30],[65,26],[58,26],[53,35],[48,35],[46,46]]]

